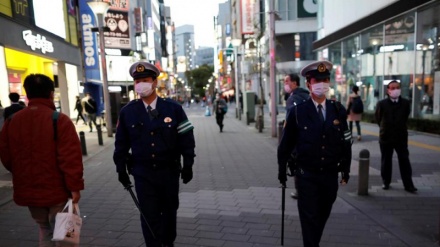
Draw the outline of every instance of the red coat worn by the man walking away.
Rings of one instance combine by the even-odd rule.
[[[49,99],[31,99],[28,107],[6,121],[0,135],[0,158],[12,173],[14,201],[47,207],[67,201],[84,189],[81,145],[70,118],[60,113],[54,141]]]

